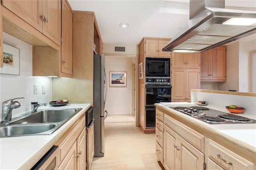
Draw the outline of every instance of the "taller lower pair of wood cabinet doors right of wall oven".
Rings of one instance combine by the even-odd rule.
[[[191,89],[200,89],[200,69],[172,69],[172,102],[190,102]]]

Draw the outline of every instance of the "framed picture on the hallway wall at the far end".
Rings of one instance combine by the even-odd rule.
[[[110,71],[109,87],[126,87],[127,85],[126,71]]]

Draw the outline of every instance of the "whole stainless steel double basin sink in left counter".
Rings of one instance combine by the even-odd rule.
[[[52,134],[81,109],[52,109],[25,113],[0,125],[0,137]]]

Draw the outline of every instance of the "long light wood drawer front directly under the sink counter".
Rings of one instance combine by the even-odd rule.
[[[68,151],[70,150],[73,143],[78,138],[79,134],[85,127],[85,116],[83,119],[76,125],[76,127],[68,134],[68,136],[60,143],[60,162],[64,159]]]

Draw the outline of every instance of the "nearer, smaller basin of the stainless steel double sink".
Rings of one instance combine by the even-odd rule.
[[[33,134],[48,134],[57,125],[55,123],[32,124],[32,125],[12,125],[0,127],[0,137],[23,136]]]

